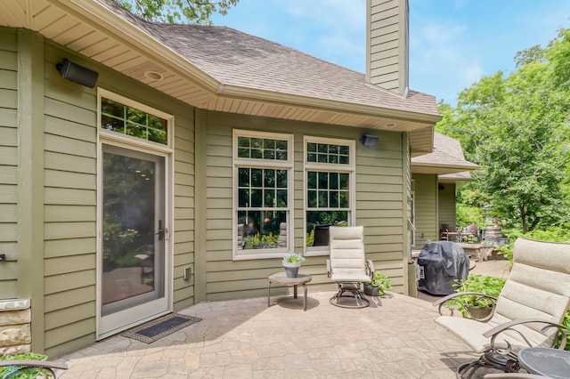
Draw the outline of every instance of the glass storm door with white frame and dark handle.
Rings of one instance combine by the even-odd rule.
[[[168,310],[165,159],[102,146],[99,337]]]

